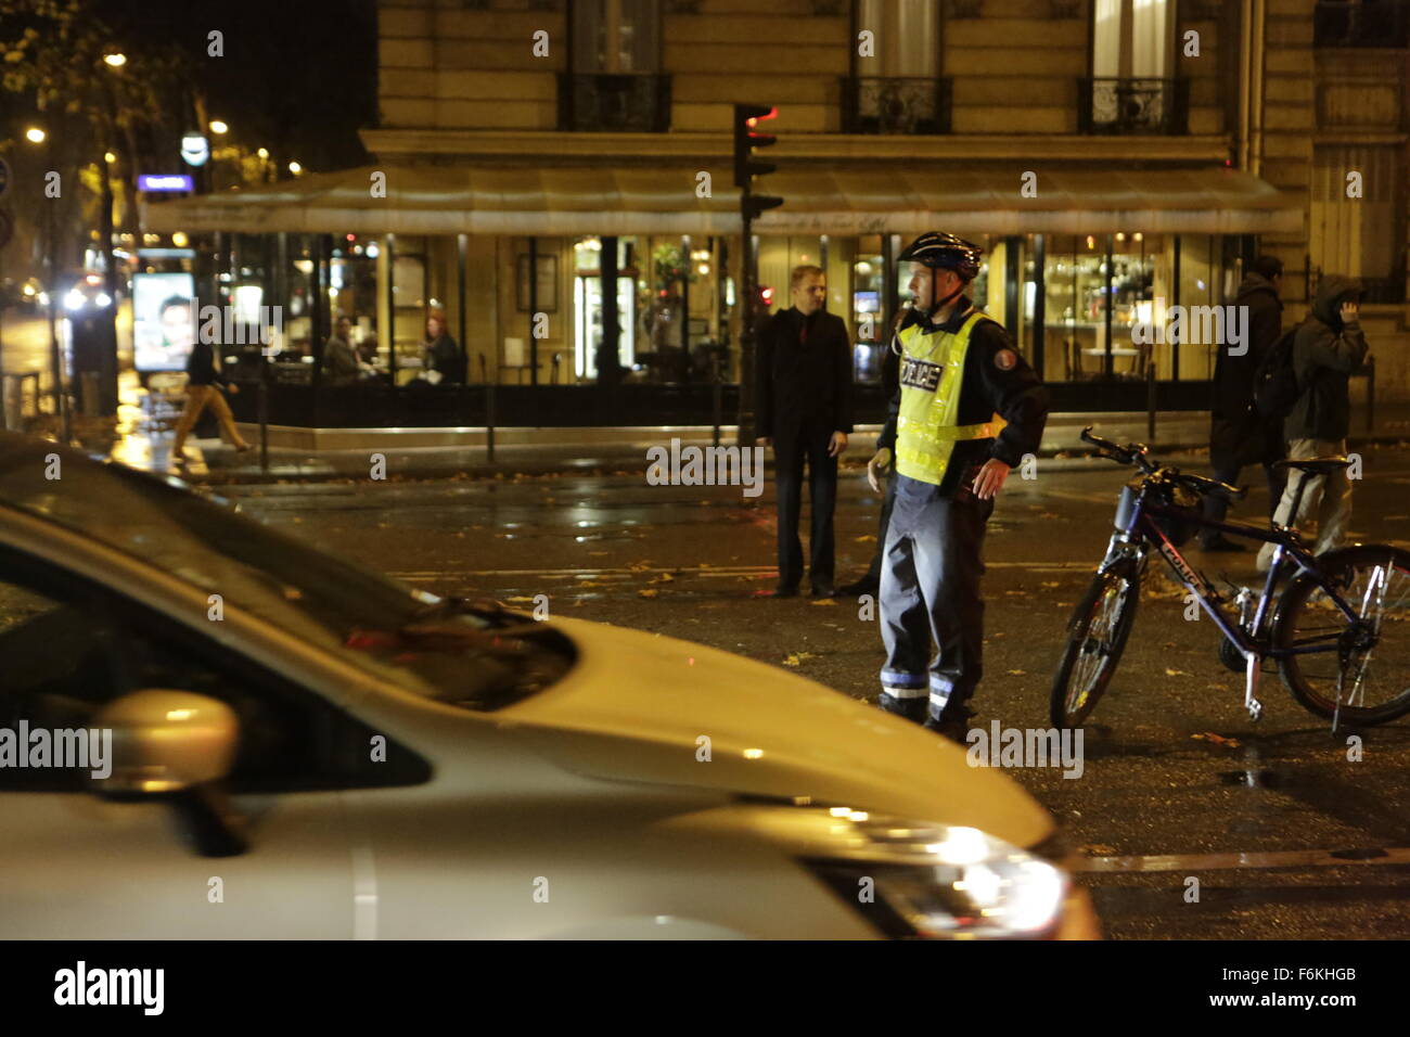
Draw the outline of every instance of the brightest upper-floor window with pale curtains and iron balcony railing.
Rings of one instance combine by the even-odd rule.
[[[1091,76],[1077,96],[1081,133],[1186,133],[1189,83],[1175,76],[1173,0],[1094,0]]]

